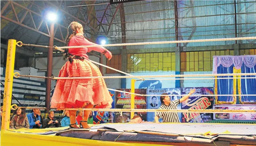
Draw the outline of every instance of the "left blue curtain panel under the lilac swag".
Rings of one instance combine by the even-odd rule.
[[[223,67],[222,65],[217,67],[217,74],[232,74],[234,65],[230,67]],[[218,76],[220,77],[233,77],[233,76]],[[215,82],[214,82],[215,84]],[[216,86],[215,86],[216,87]],[[217,93],[218,95],[231,95],[233,94],[233,79],[219,79],[217,80]],[[218,96],[218,104],[230,104],[233,102],[233,96]]]

